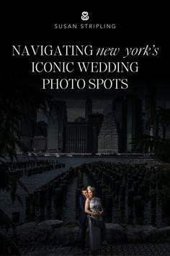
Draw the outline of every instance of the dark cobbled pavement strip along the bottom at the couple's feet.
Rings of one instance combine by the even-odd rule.
[[[61,246],[39,246],[39,247],[23,247],[22,255],[155,255],[170,256],[170,243],[164,244],[108,244],[97,252],[90,252],[88,248],[84,251],[77,247],[61,247]]]

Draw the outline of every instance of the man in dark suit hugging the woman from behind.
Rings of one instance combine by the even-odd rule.
[[[89,197],[86,187],[81,189],[81,196],[79,197],[79,208],[80,208],[80,229],[81,229],[81,236],[80,236],[80,243],[81,249],[85,248],[86,242],[86,218],[87,213],[84,212],[84,206],[86,202],[86,198]]]

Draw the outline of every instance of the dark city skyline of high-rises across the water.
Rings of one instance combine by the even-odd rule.
[[[154,90],[150,90],[150,93],[142,99],[137,94],[116,97],[104,107],[102,114],[95,111],[95,101],[91,98],[87,97],[86,101],[81,102],[83,107],[80,106],[80,101],[76,103],[79,104],[79,109],[80,107],[81,110],[84,109],[84,114],[76,108],[73,121],[70,121],[66,102],[54,101],[55,108],[47,121],[48,151],[132,153],[136,150],[135,145],[132,144],[134,139],[139,140],[143,135],[164,136],[162,124],[158,121],[158,110],[161,106]],[[162,101],[162,107],[168,106],[169,101]],[[44,124],[40,125],[44,127]],[[166,136],[169,137],[168,128]],[[36,143],[37,140],[42,143],[42,136],[39,136],[39,139],[35,137],[35,140]],[[62,141],[62,146],[59,145],[59,141]]]

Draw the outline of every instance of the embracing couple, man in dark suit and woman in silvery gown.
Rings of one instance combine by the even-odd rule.
[[[95,195],[95,188],[88,186],[81,189],[79,198],[80,225],[81,225],[81,249],[86,242],[86,229],[89,227],[89,245],[92,251],[96,251],[106,244],[105,225],[103,221],[102,203]]]

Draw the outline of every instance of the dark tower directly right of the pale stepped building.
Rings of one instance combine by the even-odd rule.
[[[127,150],[127,105],[125,98],[117,97],[112,101],[112,112],[115,117],[118,132],[118,152],[125,153]]]

